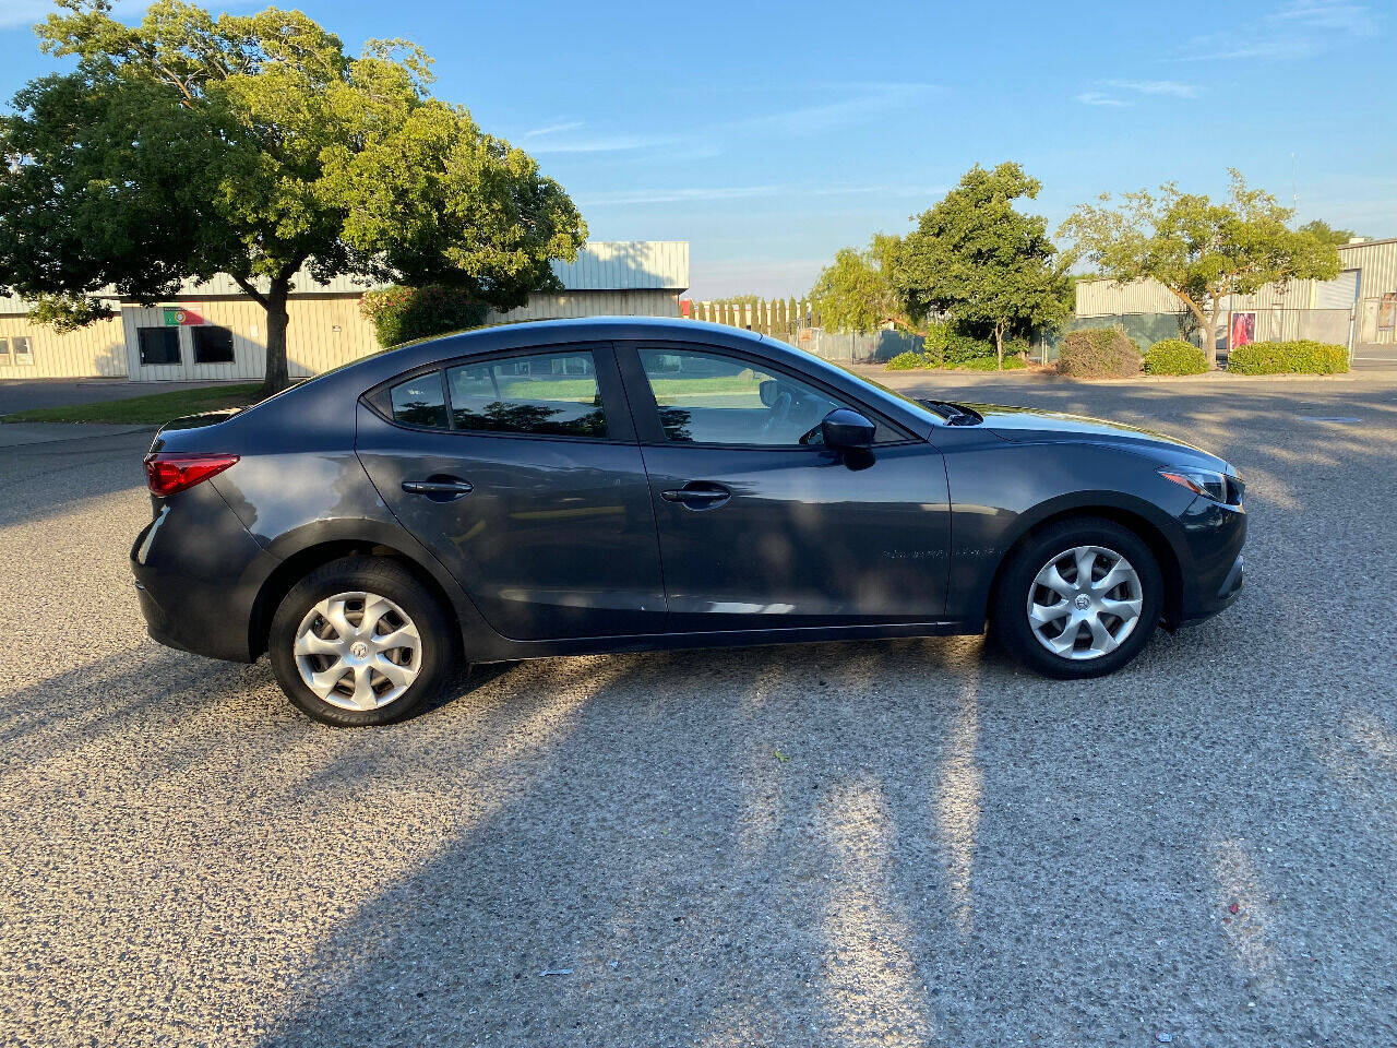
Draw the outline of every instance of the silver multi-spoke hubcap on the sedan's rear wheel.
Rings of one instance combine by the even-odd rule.
[[[306,687],[341,710],[374,710],[400,699],[422,671],[412,619],[376,592],[339,592],[300,620],[296,669]]]

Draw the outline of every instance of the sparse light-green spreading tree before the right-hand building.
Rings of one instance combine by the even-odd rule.
[[[1333,279],[1338,250],[1333,236],[1291,229],[1291,210],[1264,190],[1250,189],[1236,170],[1225,203],[1180,193],[1171,182],[1154,196],[1126,193],[1119,207],[1083,204],[1058,231],[1074,240],[1076,254],[1102,275],[1125,284],[1154,279],[1197,320],[1208,365],[1217,363],[1221,300],[1250,295],[1287,279]],[[1327,226],[1324,226],[1327,229]]]

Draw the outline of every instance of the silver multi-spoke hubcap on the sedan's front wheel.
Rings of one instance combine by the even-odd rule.
[[[1120,553],[1077,546],[1055,556],[1028,587],[1028,625],[1038,643],[1062,658],[1101,658],[1140,622],[1144,590]]]

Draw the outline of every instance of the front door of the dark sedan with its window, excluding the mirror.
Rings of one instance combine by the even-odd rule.
[[[672,632],[935,622],[950,511],[930,444],[880,419],[855,461],[820,444],[854,407],[707,347],[619,347],[659,530]]]

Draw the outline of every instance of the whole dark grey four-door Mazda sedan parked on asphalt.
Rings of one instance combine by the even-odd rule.
[[[367,356],[145,458],[151,636],[267,653],[341,725],[453,667],[981,633],[1053,678],[1242,585],[1242,479],[1182,440],[911,400],[676,320],[513,324]]]

